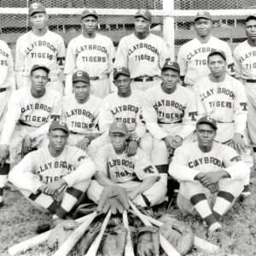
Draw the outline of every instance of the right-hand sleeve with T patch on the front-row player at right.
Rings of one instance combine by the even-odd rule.
[[[230,174],[231,179],[243,179],[250,173],[247,163],[241,159],[236,150],[228,146],[224,147],[222,152],[224,158],[224,171]]]

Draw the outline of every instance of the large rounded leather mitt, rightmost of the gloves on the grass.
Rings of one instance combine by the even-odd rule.
[[[165,236],[181,255],[189,253],[194,245],[194,232],[189,225],[168,216],[159,220],[164,222],[160,227],[160,234]]]

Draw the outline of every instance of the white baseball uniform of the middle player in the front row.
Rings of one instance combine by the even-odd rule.
[[[146,177],[160,177],[141,148],[137,148],[137,154],[128,157],[125,152],[116,154],[112,143],[110,143],[99,149],[95,163],[96,171],[106,173],[114,183],[129,191],[137,187]],[[133,202],[141,207],[160,204],[166,197],[166,183],[166,177],[160,177],[160,180],[145,190],[143,194],[137,195]],[[102,185],[93,180],[87,194],[91,200],[97,202],[101,197],[102,189]]]

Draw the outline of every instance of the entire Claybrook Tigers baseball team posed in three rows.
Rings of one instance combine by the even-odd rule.
[[[84,9],[66,52],[44,5],[32,3],[32,30],[18,38],[15,64],[0,41],[2,211],[7,180],[53,218],[66,218],[84,195],[97,204],[105,193],[103,212],[123,212],[128,200],[157,206],[177,180],[177,207],[214,234],[236,199],[250,198],[256,15],[244,20],[247,40],[232,53],[199,11],[196,37],[177,61],[150,32],[151,18],[138,10],[135,32],[115,49],[96,32],[96,11]]]

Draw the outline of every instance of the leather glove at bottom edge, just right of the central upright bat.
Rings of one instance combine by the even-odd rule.
[[[160,237],[159,229],[150,226],[139,228],[137,234],[137,256],[159,256],[160,255]]]

